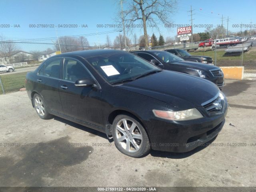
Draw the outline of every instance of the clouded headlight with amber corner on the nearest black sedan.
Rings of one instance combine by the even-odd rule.
[[[182,111],[162,111],[154,109],[153,113],[156,117],[173,121],[186,121],[192,119],[199,119],[203,117],[202,114],[196,108]]]

